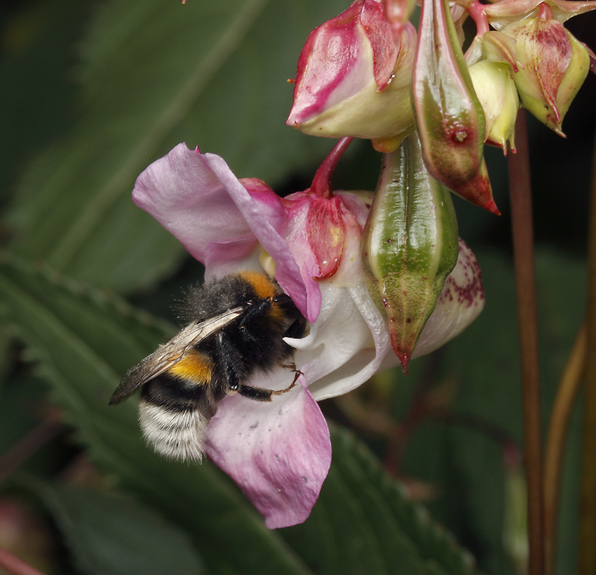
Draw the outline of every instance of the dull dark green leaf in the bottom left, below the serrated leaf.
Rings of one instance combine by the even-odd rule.
[[[48,506],[81,573],[203,572],[190,538],[131,498],[92,489],[32,484]]]

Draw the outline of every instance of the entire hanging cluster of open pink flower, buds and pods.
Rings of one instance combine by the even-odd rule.
[[[562,134],[595,60],[562,23],[596,0],[421,0],[417,30],[413,8],[412,0],[355,0],[306,40],[287,124],[342,138],[308,190],[281,198],[180,144],[133,191],[205,265],[206,281],[264,270],[309,322],[304,338],[287,339],[301,385],[272,403],[228,395],[207,428],[208,457],[267,527],[304,521],[327,475],[318,400],[389,366],[407,371],[482,310],[480,268],[458,238],[450,191],[499,213],[484,144],[515,152],[520,98]],[[477,34],[464,55],[468,16]],[[376,192],[332,190],[353,138],[383,154]],[[280,390],[283,381],[273,372],[250,385]]]

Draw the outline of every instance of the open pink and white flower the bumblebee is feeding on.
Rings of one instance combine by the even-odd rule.
[[[381,366],[398,362],[388,355],[386,323],[360,263],[370,194],[332,193],[327,186],[342,145],[313,187],[283,199],[260,180],[238,180],[222,158],[184,144],[151,164],[133,190],[135,203],[204,263],[206,281],[242,270],[274,272],[310,322],[308,335],[288,341],[297,349],[302,385],[271,403],[226,396],[207,428],[206,454],[269,528],[304,521],[329,470],[329,431],[316,402],[353,390]],[[469,249],[461,250],[461,260],[416,355],[448,341],[482,309],[478,264]],[[287,387],[282,372],[255,376],[250,384]]]

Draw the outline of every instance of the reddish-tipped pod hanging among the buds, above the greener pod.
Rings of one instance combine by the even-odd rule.
[[[482,151],[485,114],[447,0],[422,0],[412,103],[428,171],[456,194],[499,214]]]

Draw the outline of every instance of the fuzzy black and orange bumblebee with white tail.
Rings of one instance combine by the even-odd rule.
[[[300,372],[292,363],[294,349],[283,338],[302,337],[306,319],[290,296],[259,272],[228,275],[193,289],[184,309],[189,324],[129,369],[109,404],[141,388],[140,426],[147,442],[163,456],[200,461],[205,429],[220,399],[239,393],[270,402],[294,387]],[[287,388],[245,383],[276,366],[293,369]]]

